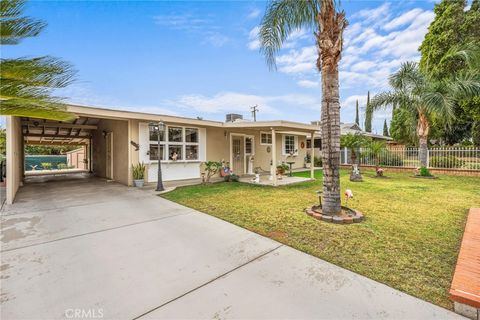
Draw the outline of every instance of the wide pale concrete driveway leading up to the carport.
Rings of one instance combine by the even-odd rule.
[[[30,183],[2,212],[2,319],[454,319],[206,214],[100,179]]]

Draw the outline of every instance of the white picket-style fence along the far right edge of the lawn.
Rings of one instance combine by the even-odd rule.
[[[368,148],[360,148],[355,150],[355,156],[355,162],[360,165],[379,164],[380,166],[405,168],[420,167],[418,148],[386,148],[378,156],[375,156]],[[342,148],[341,163],[353,163],[351,150]],[[480,148],[430,148],[427,153],[427,166],[429,168],[480,171]]]

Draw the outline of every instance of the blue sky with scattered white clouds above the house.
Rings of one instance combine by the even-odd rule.
[[[295,30],[270,71],[259,51],[263,1],[31,1],[26,14],[48,23],[35,38],[4,46],[2,58],[51,55],[78,70],[57,94],[88,106],[225,119],[320,119],[320,75],[312,30]],[[349,26],[340,62],[341,121],[361,126],[367,92],[419,60],[435,2],[343,0]],[[374,114],[381,133],[391,111]]]

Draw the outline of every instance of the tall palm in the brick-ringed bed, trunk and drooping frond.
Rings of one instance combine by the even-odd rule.
[[[330,215],[341,212],[338,63],[346,26],[345,13],[337,11],[334,0],[275,0],[268,4],[259,32],[261,51],[270,69],[274,69],[276,54],[292,31],[314,31],[316,67],[322,78],[322,211]]]

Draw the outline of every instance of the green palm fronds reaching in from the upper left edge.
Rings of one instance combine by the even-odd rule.
[[[37,36],[43,21],[24,16],[24,0],[0,2],[0,45],[16,45]],[[60,59],[44,56],[0,60],[0,114],[53,120],[71,120],[63,99],[52,91],[72,83],[75,70]]]

